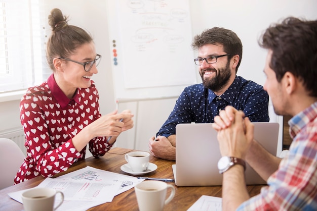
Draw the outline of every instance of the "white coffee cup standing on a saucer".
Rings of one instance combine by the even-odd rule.
[[[134,151],[125,154],[125,159],[128,162],[133,172],[143,172],[150,161],[150,153],[145,151]]]

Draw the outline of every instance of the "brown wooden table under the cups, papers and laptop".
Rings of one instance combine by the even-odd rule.
[[[89,157],[84,161],[73,164],[66,172],[60,173],[55,177],[87,166],[110,172],[130,175],[120,169],[122,165],[127,163],[124,158],[124,154],[130,151],[134,150],[125,148],[112,148],[99,159]],[[152,155],[150,156],[150,162],[156,164],[157,169],[154,172],[142,176],[155,178],[174,178],[172,165],[175,164],[175,162],[158,159]],[[44,179],[44,177],[38,176],[23,183],[0,190],[0,210],[23,210],[23,205],[10,198],[8,193],[35,187]],[[174,185],[176,193],[173,200],[164,207],[164,210],[187,210],[202,195],[221,197],[221,186],[178,187],[175,186],[174,183],[169,184]],[[263,185],[249,185],[247,189],[250,196],[260,193],[261,187],[263,187]],[[112,202],[92,207],[89,210],[139,210],[134,188],[115,196]]]

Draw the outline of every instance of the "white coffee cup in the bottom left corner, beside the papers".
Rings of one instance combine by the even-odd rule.
[[[55,195],[61,195],[61,201],[54,207]],[[64,201],[64,194],[52,188],[33,188],[22,193],[25,211],[53,211]]]

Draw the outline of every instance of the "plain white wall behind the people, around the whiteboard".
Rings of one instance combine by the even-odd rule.
[[[107,114],[113,111],[115,99],[106,0],[44,0],[43,2],[46,5],[47,15],[51,9],[59,8],[70,16],[69,24],[80,26],[93,35],[96,50],[103,56],[98,66],[99,73],[93,77],[100,93],[101,113]],[[214,26],[236,32],[244,45],[243,59],[237,74],[261,85],[265,80],[263,68],[266,52],[257,44],[260,33],[270,23],[290,15],[317,19],[315,0],[189,0],[189,2],[192,36]],[[198,74],[197,81],[201,81]],[[148,150],[148,139],[155,135],[166,120],[174,107],[175,100],[176,98],[168,98],[121,103],[120,111],[130,109],[135,114],[135,127],[118,138],[117,146]],[[21,128],[18,106],[19,100],[0,102],[0,132]]]

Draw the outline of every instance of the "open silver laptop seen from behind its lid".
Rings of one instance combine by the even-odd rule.
[[[270,153],[276,155],[279,123],[254,124],[254,138]],[[172,165],[177,186],[222,185],[217,163],[221,157],[217,131],[212,123],[178,124],[176,126],[176,165]],[[247,164],[247,185],[266,182]]]

